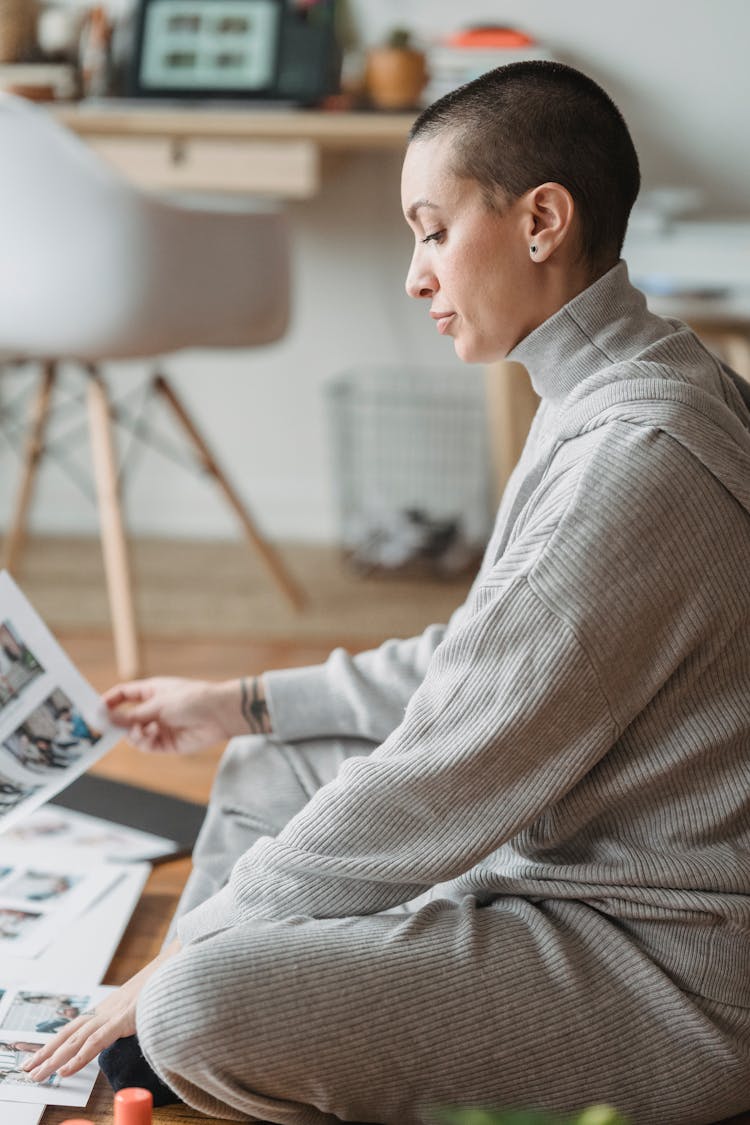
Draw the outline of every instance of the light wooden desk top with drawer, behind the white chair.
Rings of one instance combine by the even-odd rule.
[[[414,114],[138,105],[53,106],[54,116],[139,187],[309,199],[324,161],[401,152]]]

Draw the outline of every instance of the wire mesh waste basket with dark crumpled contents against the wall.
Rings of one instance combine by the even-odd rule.
[[[455,574],[491,524],[476,368],[364,367],[325,387],[340,536],[359,569]]]

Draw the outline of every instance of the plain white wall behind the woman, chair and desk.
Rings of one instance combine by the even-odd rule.
[[[363,42],[410,25],[425,38],[455,26],[452,0],[352,0]],[[461,22],[515,22],[555,57],[599,81],[623,110],[645,187],[695,184],[706,212],[750,213],[748,0],[464,0]],[[335,533],[322,386],[361,361],[452,362],[424,309],[404,295],[409,233],[398,202],[399,159],[336,165],[315,200],[289,207],[295,316],[280,343],[255,352],[192,353],[169,370],[273,536]],[[750,262],[748,263],[750,273]],[[133,368],[111,367],[118,385]],[[0,449],[0,523],[15,462]],[[232,536],[213,489],[148,454],[128,489],[137,533]],[[96,529],[92,507],[55,471],[40,480],[34,525]]]

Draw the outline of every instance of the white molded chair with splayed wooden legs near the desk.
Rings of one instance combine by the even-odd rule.
[[[132,187],[43,108],[0,94],[0,352],[42,367],[20,485],[6,536],[17,564],[61,362],[88,379],[100,534],[119,674],[138,668],[138,642],[110,417],[98,364],[184,348],[247,348],[278,340],[289,316],[283,216],[182,206]],[[295,608],[302,595],[163,375],[171,407],[202,467]]]

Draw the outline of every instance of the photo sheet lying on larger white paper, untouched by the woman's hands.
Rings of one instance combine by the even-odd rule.
[[[36,957],[121,876],[121,867],[0,837],[0,954]]]

